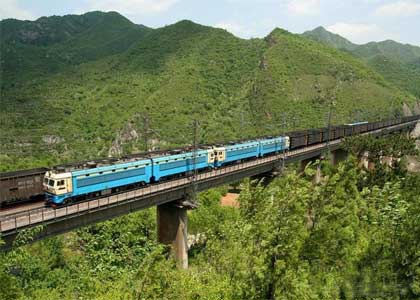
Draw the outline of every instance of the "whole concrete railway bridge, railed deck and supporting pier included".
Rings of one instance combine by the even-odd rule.
[[[381,136],[404,132],[415,127],[418,120],[409,121],[364,134]],[[78,202],[59,208],[22,206],[10,213],[0,215],[3,250],[14,246],[16,236],[25,229],[42,225],[34,240],[65,233],[76,228],[109,220],[134,211],[157,206],[157,230],[160,242],[172,246],[175,258],[183,268],[188,267],[187,210],[194,203],[188,200],[191,186],[203,191],[251,176],[264,176],[279,170],[283,164],[307,163],[331,151],[333,162],[344,159],[344,139],[319,143],[284,153],[246,161],[219,169],[196,174],[191,177],[151,184],[143,188]]]

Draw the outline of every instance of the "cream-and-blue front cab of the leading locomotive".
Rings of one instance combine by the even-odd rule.
[[[71,173],[55,173],[48,171],[44,176],[43,188],[47,202],[61,203],[73,191]]]

